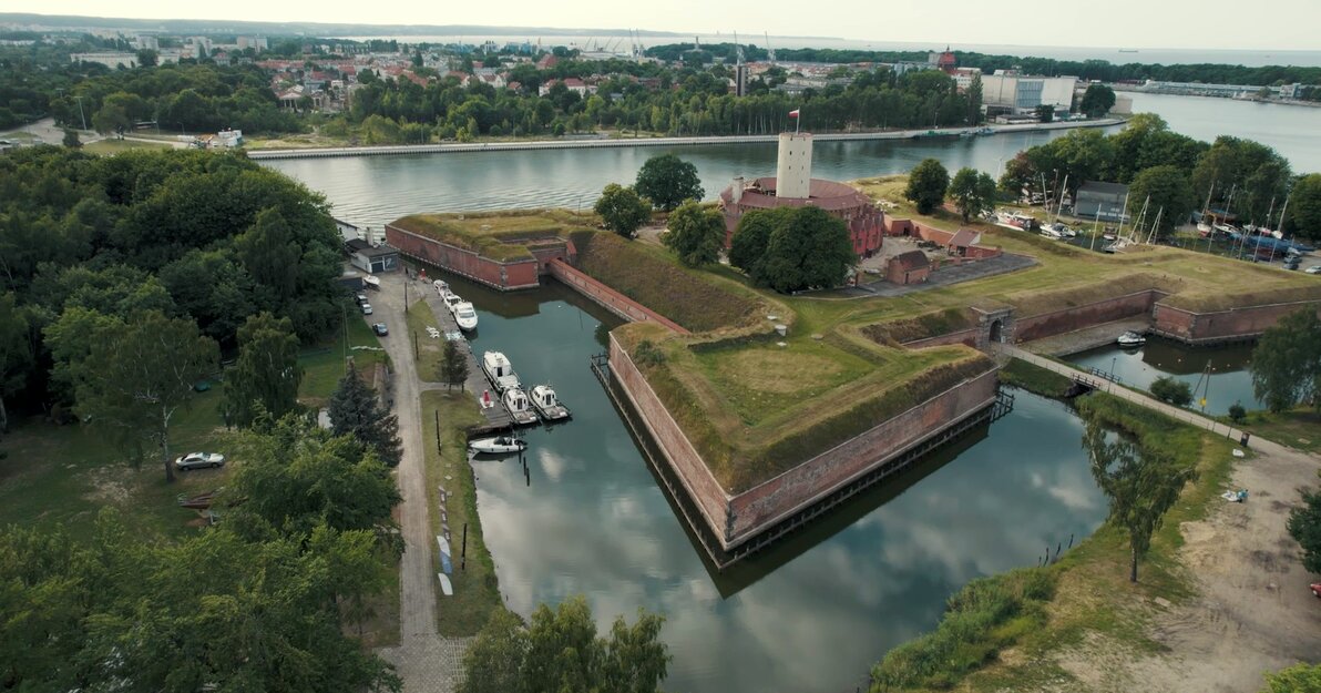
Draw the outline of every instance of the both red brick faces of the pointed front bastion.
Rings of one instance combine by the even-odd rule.
[[[678,422],[670,417],[633,360],[610,336],[610,373],[651,435],[662,458],[700,510],[724,550],[807,509],[832,492],[901,456],[941,431],[995,403],[996,372],[919,403],[884,423],[816,455],[769,481],[732,496],[720,485]]]

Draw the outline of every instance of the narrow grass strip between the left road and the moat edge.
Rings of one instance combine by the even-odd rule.
[[[440,413],[441,450],[436,450],[436,414]],[[466,430],[482,422],[477,402],[469,393],[443,393],[427,390],[421,394],[423,447],[427,459],[427,504],[431,508],[433,534],[441,534],[443,524],[449,525],[449,545],[454,571],[450,582],[454,595],[440,594],[435,585],[440,633],[449,636],[476,635],[493,610],[503,608],[495,563],[482,538],[482,522],[477,514],[477,488],[473,467],[468,462]],[[440,488],[445,489],[445,503],[440,501]],[[443,518],[440,508],[444,508]],[[468,525],[468,559],[461,558],[464,525]],[[436,545],[432,544],[432,549]],[[437,571],[439,571],[439,555]]]

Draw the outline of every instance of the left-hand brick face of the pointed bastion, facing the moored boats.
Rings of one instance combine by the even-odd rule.
[[[614,335],[610,335],[610,373],[620,382],[624,394],[633,402],[633,407],[642,415],[647,432],[664,452],[664,460],[660,462],[670,464],[683,488],[687,489],[688,497],[705,518],[707,526],[724,542],[729,496],[720,488],[720,483],[707,468],[707,463],[701,460],[697,450],[683,435],[683,430],[670,417],[670,411],[660,403]]]

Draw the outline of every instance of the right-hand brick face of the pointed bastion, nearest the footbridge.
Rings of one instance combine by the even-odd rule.
[[[613,361],[612,361],[613,362]],[[966,381],[729,501],[731,545],[828,496],[905,450],[995,402],[996,372]]]

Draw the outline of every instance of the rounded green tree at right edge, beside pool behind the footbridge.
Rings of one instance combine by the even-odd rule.
[[[1314,309],[1289,313],[1262,333],[1252,349],[1252,394],[1271,411],[1292,409],[1317,398],[1321,380],[1321,319]]]

